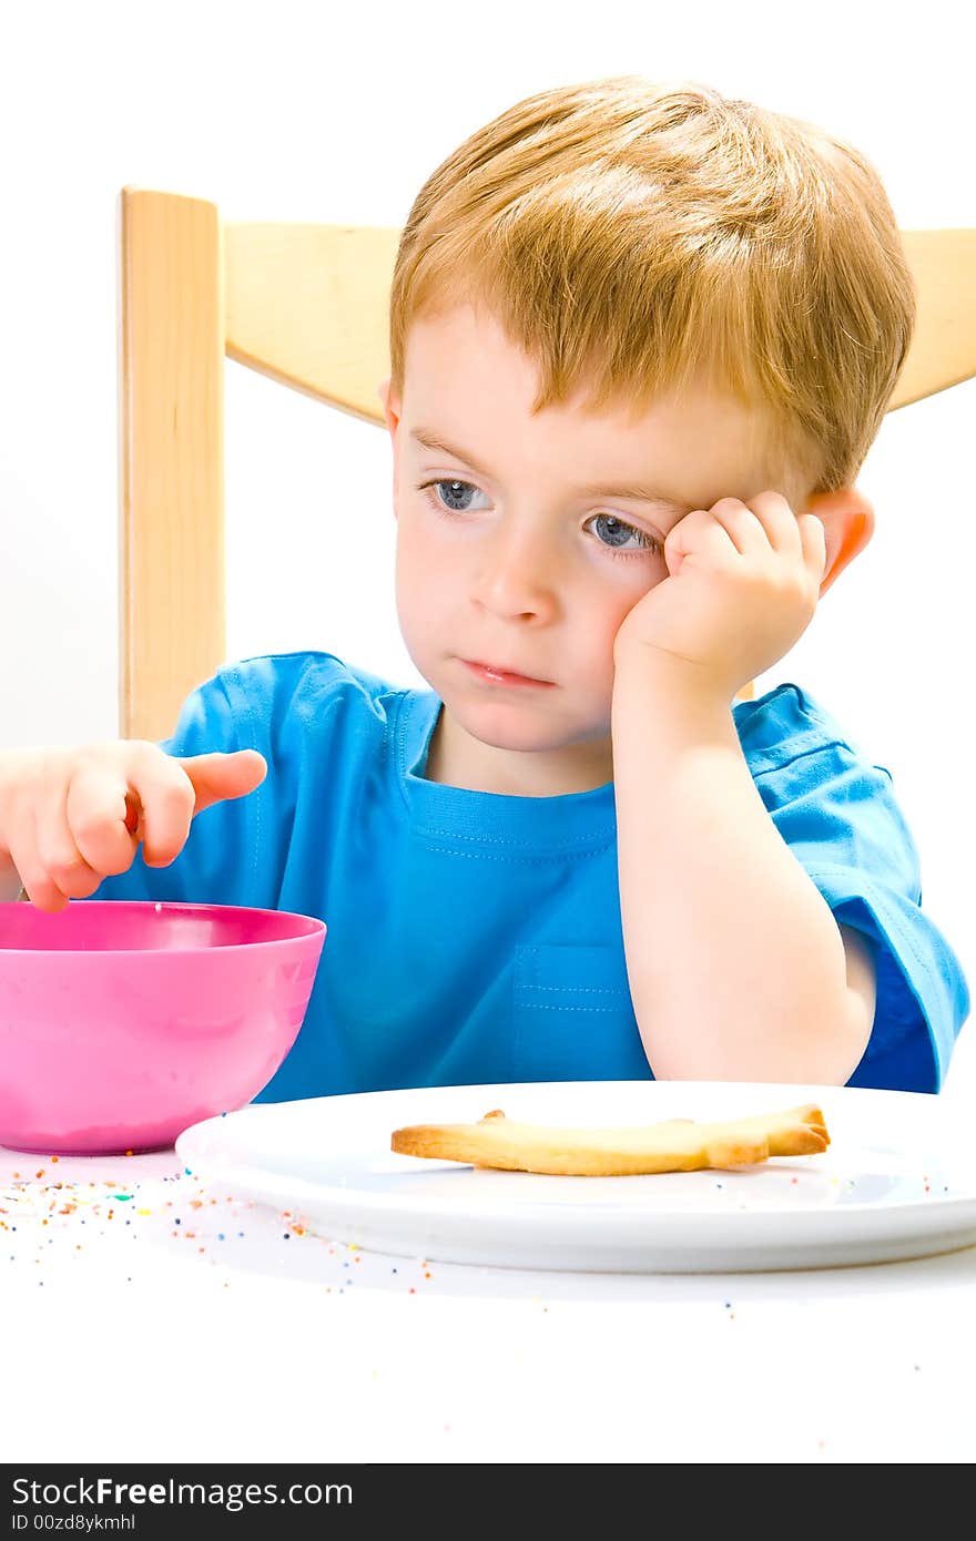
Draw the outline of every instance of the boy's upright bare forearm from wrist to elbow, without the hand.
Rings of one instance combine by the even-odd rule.
[[[621,650],[612,709],[620,903],[658,1079],[848,1080],[874,1020],[870,948],[769,817],[731,703]]]

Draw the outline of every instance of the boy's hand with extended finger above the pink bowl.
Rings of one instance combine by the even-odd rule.
[[[265,774],[256,749],[182,760],[142,740],[5,750],[0,869],[12,863],[39,909],[63,909],[126,872],[140,841],[146,866],[168,866],[194,814],[251,792]]]

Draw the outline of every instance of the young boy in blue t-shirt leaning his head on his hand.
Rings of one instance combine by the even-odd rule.
[[[913,321],[879,179],[820,129],[638,77],[518,103],[429,177],[393,279],[430,690],[251,658],[162,747],[0,755],[8,897],[321,915],[257,1100],[936,1091],[968,994],[888,772],[794,684],[735,700],[871,536],[853,482]]]

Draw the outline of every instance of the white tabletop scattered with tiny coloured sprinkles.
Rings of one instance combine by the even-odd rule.
[[[944,1097],[976,1110],[964,1029]],[[976,1120],[974,1120],[976,1126]],[[8,1462],[971,1462],[976,1248],[765,1274],[356,1251],[133,1157],[0,1150]]]

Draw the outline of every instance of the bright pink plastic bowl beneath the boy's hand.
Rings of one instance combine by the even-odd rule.
[[[225,905],[0,905],[0,1145],[163,1150],[298,1037],[325,923]]]

